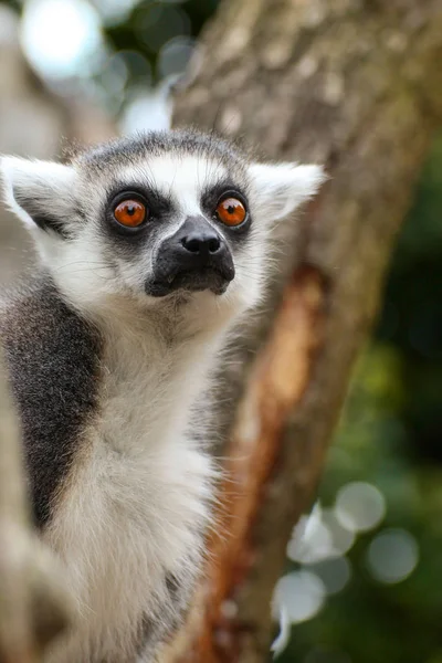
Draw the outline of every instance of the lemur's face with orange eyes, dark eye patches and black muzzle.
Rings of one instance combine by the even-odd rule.
[[[249,182],[233,167],[209,154],[166,152],[122,165],[114,178],[107,170],[95,253],[128,291],[150,298],[225,293],[253,244]]]

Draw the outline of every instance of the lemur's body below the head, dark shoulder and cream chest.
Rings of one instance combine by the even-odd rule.
[[[59,304],[44,285],[1,325],[35,514],[44,514],[43,537],[65,562],[80,613],[76,633],[50,660],[131,663],[179,624],[201,565],[213,472],[187,432],[191,402],[203,396],[199,344],[141,335],[146,319],[101,329],[94,345]],[[71,390],[60,391],[57,371]]]

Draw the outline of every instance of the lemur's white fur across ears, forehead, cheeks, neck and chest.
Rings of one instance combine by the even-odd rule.
[[[143,613],[159,621],[161,614],[170,618],[165,573],[179,576],[189,591],[198,575],[214,472],[189,432],[196,406],[207,398],[229,330],[261,296],[270,222],[311,197],[324,177],[316,166],[245,165],[241,185],[253,224],[246,242],[232,249],[235,278],[223,295],[192,293],[177,303],[145,295],[158,246],[149,246],[136,262],[107,259],[109,248],[97,229],[114,171],[97,172],[91,182],[77,166],[24,164],[1,161],[9,204],[27,223],[30,215],[14,201],[21,188],[52,212],[57,204],[63,212],[71,208],[65,217],[74,238],[66,242],[39,229],[40,254],[67,301],[105,339],[99,417],[84,431],[83,456],[46,533],[66,561],[81,613],[72,639],[55,646],[50,661],[95,663],[99,642],[97,660],[125,663]],[[201,191],[227,175],[219,160],[176,154],[117,172],[120,185],[155,182],[170,192],[178,212],[169,233],[187,217],[203,213]],[[75,218],[75,197],[87,202],[87,223]]]

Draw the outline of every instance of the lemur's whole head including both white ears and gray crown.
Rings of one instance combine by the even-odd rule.
[[[318,166],[256,164],[188,131],[123,138],[69,165],[4,157],[1,170],[45,267],[91,312],[118,297],[253,305],[274,223],[324,179]]]

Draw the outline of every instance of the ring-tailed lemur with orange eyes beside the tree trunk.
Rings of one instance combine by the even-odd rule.
[[[45,661],[161,661],[211,523],[217,472],[198,409],[260,301],[275,223],[323,170],[255,162],[193,131],[0,166],[39,253],[1,298],[0,339],[34,520],[78,612]]]

